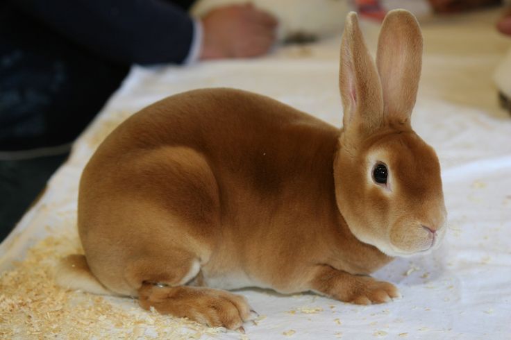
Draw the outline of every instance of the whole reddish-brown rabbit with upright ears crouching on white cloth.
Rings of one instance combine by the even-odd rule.
[[[351,12],[342,130],[229,89],[176,94],[134,114],[83,171],[85,257],[67,257],[58,281],[229,329],[250,307],[221,289],[358,304],[399,296],[369,273],[436,248],[446,229],[437,156],[410,126],[421,53],[416,19],[394,10],[376,67]]]

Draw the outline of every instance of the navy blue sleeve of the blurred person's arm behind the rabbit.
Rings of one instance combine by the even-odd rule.
[[[192,19],[163,0],[12,0],[12,5],[124,65],[183,62],[192,44]]]

